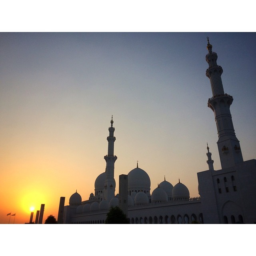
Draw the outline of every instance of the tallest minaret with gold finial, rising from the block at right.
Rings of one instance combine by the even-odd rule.
[[[206,61],[209,64],[209,68],[206,70],[206,76],[210,79],[212,86],[212,98],[208,100],[208,107],[212,109],[215,115],[219,137],[217,144],[220,163],[222,169],[224,169],[243,162],[243,157],[230,114],[230,105],[233,102],[233,97],[224,93],[221,80],[223,70],[221,66],[217,65],[218,56],[215,52],[212,52],[212,45],[208,37],[207,40],[206,48],[208,54],[206,55]]]

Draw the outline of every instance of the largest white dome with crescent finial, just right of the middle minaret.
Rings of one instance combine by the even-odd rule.
[[[150,191],[150,178],[144,170],[138,167],[128,173],[128,191],[132,190]]]

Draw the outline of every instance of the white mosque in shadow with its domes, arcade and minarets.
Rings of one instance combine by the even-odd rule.
[[[198,172],[199,197],[190,198],[188,188],[179,180],[174,186],[164,180],[151,192],[150,177],[146,171],[136,168],[119,176],[119,193],[115,194],[114,179],[115,128],[113,117],[108,128],[108,154],[106,170],[94,183],[94,194],[82,200],[78,192],[70,196],[69,205],[64,206],[65,197],[60,198],[59,224],[104,224],[112,206],[119,206],[131,224],[253,224],[256,222],[256,160],[244,161],[239,140],[236,138],[230,105],[233,97],[224,93],[222,67],[217,65],[217,54],[207,44],[206,61],[209,68],[212,98],[208,107],[212,109],[218,131],[218,152],[221,170],[214,170],[214,161],[207,145],[208,170]]]

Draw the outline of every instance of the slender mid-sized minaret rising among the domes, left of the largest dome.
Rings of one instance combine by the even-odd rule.
[[[104,182],[103,199],[110,201],[111,198],[115,196],[116,182],[114,179],[114,164],[116,162],[117,156],[114,156],[114,142],[116,137],[114,137],[115,128],[113,127],[113,116],[111,118],[111,126],[108,128],[109,136],[108,140],[108,154],[104,156],[106,160],[106,178]]]

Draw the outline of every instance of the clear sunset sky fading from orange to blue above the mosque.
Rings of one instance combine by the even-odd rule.
[[[41,204],[43,222],[57,218],[76,190],[88,200],[112,115],[116,181],[138,161],[151,193],[166,176],[199,196],[207,142],[221,168],[206,36],[243,158],[256,158],[256,33],[0,33],[0,223],[29,222]]]

